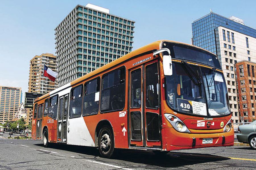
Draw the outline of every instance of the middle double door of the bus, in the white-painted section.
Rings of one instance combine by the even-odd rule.
[[[59,97],[57,141],[67,143],[67,111],[69,95]]]

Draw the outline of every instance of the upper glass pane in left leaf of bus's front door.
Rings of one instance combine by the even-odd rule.
[[[141,69],[131,72],[131,108],[141,107]]]

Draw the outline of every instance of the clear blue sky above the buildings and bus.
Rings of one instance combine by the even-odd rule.
[[[191,23],[210,9],[222,16],[234,15],[256,28],[256,1],[0,0],[0,85],[27,92],[30,59],[46,52],[55,54],[55,27],[76,5],[87,3],[134,20],[133,49],[160,39],[191,43]]]

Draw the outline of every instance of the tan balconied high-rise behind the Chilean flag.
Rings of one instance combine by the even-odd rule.
[[[40,56],[34,56],[30,60],[28,81],[29,93],[46,94],[57,88],[57,79],[55,80],[55,82],[52,82],[48,77],[44,76],[44,65],[46,65],[52,71],[57,72],[56,64],[56,56],[50,53],[41,54]]]

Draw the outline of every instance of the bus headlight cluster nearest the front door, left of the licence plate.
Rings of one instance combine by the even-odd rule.
[[[169,113],[165,113],[164,116],[175,130],[179,132],[190,133],[187,126],[177,116]]]

